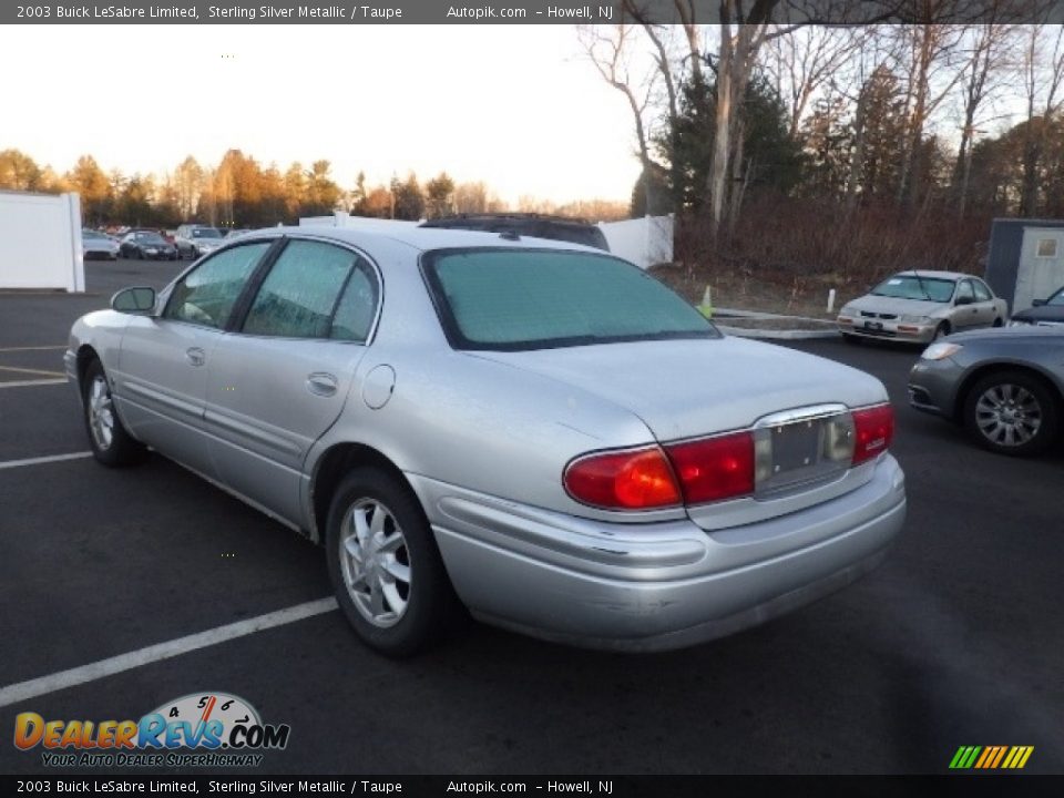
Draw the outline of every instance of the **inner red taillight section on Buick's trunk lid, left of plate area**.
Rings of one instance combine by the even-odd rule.
[[[666,447],[688,504],[754,492],[754,437],[749,432]]]

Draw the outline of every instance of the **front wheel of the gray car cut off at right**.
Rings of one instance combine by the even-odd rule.
[[[980,446],[1000,454],[1037,454],[1060,427],[1060,398],[1037,377],[996,371],[980,379],[964,399],[964,426]]]

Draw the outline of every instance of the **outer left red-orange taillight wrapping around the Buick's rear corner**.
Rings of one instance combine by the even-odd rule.
[[[577,501],[613,510],[679,504],[676,478],[657,447],[590,454],[565,469],[565,488]]]

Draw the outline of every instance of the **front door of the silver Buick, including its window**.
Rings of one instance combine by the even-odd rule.
[[[157,317],[133,316],[122,337],[115,401],[140,440],[209,473],[203,431],[207,369],[224,328],[270,242],[204,260],[171,291]]]

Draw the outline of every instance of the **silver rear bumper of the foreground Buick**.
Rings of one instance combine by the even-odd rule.
[[[411,481],[429,494],[448,573],[477,617],[594,648],[679,648],[807,604],[878,565],[906,515],[889,454],[850,493],[713,532],[689,520],[592,522]]]

